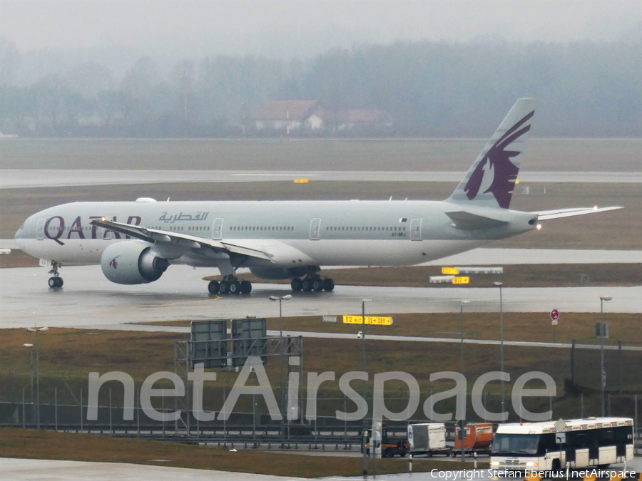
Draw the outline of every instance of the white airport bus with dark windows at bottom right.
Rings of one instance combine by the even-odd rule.
[[[560,470],[608,467],[633,460],[631,418],[588,418],[544,423],[501,424],[493,438],[491,468]]]

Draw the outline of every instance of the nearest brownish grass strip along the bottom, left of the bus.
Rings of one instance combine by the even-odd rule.
[[[357,476],[361,474],[362,462],[360,457],[306,456],[252,450],[230,452],[225,448],[210,446],[11,428],[0,428],[0,457],[131,462],[293,477]],[[453,463],[447,461],[416,460],[413,470],[447,470],[452,467]],[[472,463],[457,463],[457,468],[460,467],[469,469]],[[407,470],[408,461],[398,457],[377,461],[379,474]]]

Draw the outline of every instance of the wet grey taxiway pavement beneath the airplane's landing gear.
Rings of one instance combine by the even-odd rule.
[[[176,319],[222,319],[275,316],[277,306],[267,298],[290,294],[283,284],[255,284],[250,296],[210,296],[201,277],[207,269],[171,266],[153,284],[122,286],[108,281],[98,266],[65,267],[63,289],[46,286],[46,269],[38,267],[0,271],[0,327],[48,325],[100,326]],[[598,312],[600,296],[613,296],[608,311],[642,312],[642,286],[504,288],[504,311]],[[402,312],[459,312],[460,301],[469,299],[467,311],[496,312],[499,294],[489,288],[416,288],[337,286],[332,293],[300,292],[287,301],[286,316],[355,314],[361,300],[370,314]]]

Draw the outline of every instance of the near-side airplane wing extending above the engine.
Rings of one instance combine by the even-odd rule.
[[[187,247],[188,249],[210,247],[215,251],[233,252],[234,254],[242,254],[244,256],[256,257],[257,259],[273,262],[273,256],[267,252],[252,249],[251,247],[244,247],[239,244],[230,244],[230,242],[203,239],[203,237],[182,234],[180,232],[148,229],[147,227],[113,222],[113,220],[108,219],[93,219],[91,224],[103,227],[104,229],[120,232],[121,234],[126,234],[130,237],[136,237],[136,239],[141,239],[143,241],[150,242],[151,244],[162,244],[163,242],[168,242],[170,244],[178,244],[179,246]]]

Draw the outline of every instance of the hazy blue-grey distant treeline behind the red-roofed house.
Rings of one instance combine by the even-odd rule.
[[[19,52],[0,39],[4,134],[239,136],[245,127],[258,135],[261,105],[309,99],[387,110],[394,127],[379,135],[483,137],[516,98],[534,96],[534,135],[642,136],[639,40],[400,42],[309,60],[212,56],[171,68],[143,57],[121,78],[91,61],[28,84],[16,80],[19,69]]]

